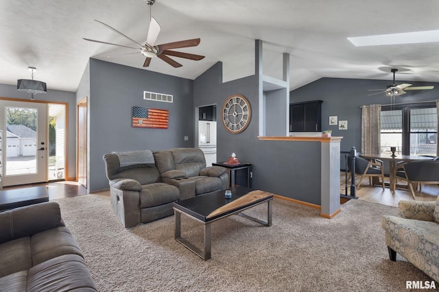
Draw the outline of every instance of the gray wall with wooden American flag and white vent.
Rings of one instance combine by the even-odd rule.
[[[108,188],[104,154],[193,146],[193,81],[90,59],[89,190]],[[174,103],[143,100],[143,91],[172,94]],[[132,107],[169,110],[168,129],[131,127]],[[184,141],[184,136],[189,141]]]

